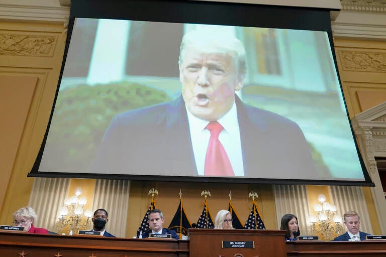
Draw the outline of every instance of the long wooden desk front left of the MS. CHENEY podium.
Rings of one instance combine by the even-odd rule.
[[[189,241],[0,232],[0,256],[187,257]],[[61,256],[59,256],[61,255]]]

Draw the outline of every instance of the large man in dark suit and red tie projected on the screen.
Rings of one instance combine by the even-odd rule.
[[[243,103],[246,57],[235,37],[186,33],[182,94],[114,117],[94,173],[319,179],[294,121]]]

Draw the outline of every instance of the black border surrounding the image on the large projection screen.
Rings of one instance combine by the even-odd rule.
[[[76,0],[71,2],[70,19],[67,40],[63,55],[63,62],[58,80],[57,90],[48,121],[47,129],[36,161],[28,173],[28,177],[56,177],[56,178],[92,178],[92,179],[121,179],[138,181],[175,181],[175,182],[216,182],[216,183],[244,183],[244,184],[305,184],[305,185],[344,185],[344,186],[375,186],[366,170],[363,159],[359,154],[357,142],[354,140],[358,158],[361,164],[364,181],[353,180],[300,180],[300,179],[259,179],[259,178],[217,178],[217,177],[187,177],[187,176],[154,176],[154,175],[123,175],[123,174],[90,174],[68,172],[42,172],[39,165],[43,156],[49,128],[52,121],[56,99],[59,93],[65,60],[71,41],[75,18],[95,19],[124,19],[152,22],[194,23],[230,25],[243,27],[262,27],[313,30],[327,32],[330,47],[334,50],[330,11],[321,8],[282,7],[253,5],[240,3],[220,3],[207,1],[172,1],[172,0]],[[338,71],[336,55],[332,51],[335,70]],[[337,72],[340,89],[339,73]],[[343,97],[344,98],[344,97]],[[347,104],[344,105],[348,116]],[[350,124],[352,135],[355,135]],[[354,137],[355,139],[355,137]]]

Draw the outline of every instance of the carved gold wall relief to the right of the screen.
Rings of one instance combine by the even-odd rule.
[[[385,52],[339,51],[344,70],[386,72]]]

